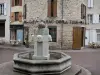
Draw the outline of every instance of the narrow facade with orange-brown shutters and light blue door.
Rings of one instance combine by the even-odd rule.
[[[23,42],[23,3],[24,0],[11,0],[10,40]]]

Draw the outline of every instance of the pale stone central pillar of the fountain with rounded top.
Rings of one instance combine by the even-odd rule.
[[[38,25],[37,34],[34,36],[34,60],[49,59],[49,41],[52,41],[49,35],[49,29],[44,24]]]

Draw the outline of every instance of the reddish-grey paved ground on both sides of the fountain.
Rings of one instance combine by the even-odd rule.
[[[30,51],[33,49],[25,47],[0,46],[0,64],[13,60],[13,54]],[[90,70],[92,75],[100,75],[100,49],[82,49],[82,50],[55,50],[63,51],[72,56],[72,63],[78,64]]]

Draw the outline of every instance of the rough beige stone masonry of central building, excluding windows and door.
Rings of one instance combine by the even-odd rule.
[[[64,20],[82,20],[81,19],[81,4],[86,5],[86,0],[57,0],[57,17],[48,18],[48,4],[47,0],[25,0],[27,4],[27,18],[26,21],[30,20],[61,20],[62,19],[62,1],[63,1],[63,19]],[[62,29],[62,24],[48,24],[48,26],[57,26],[57,42],[51,42],[51,49],[60,49],[61,41],[63,49],[71,49],[73,44],[73,26],[77,25],[68,25],[64,24]],[[34,32],[34,24],[25,24],[29,26],[30,30],[30,41],[31,34]],[[62,34],[63,30],[63,35]],[[61,39],[63,37],[63,39]]]

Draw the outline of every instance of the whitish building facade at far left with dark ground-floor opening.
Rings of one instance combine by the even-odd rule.
[[[0,0],[0,40],[10,40],[10,0]]]

